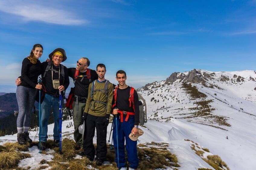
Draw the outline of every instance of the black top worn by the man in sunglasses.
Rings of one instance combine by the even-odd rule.
[[[79,72],[78,75],[86,76],[86,72]],[[69,77],[75,81],[75,68],[68,68]],[[91,82],[89,82],[89,79],[87,77],[84,77],[84,79],[81,82],[82,77],[78,77],[75,81],[75,95],[80,97],[88,97],[88,88],[91,82],[98,79],[98,75],[95,70],[91,70]]]

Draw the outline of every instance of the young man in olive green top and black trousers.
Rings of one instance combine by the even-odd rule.
[[[84,110],[85,120],[85,156],[91,161],[94,160],[95,150],[93,137],[95,128],[97,131],[96,163],[101,165],[106,160],[107,155],[107,125],[113,100],[113,84],[105,79],[106,66],[98,64],[96,67],[98,80],[89,85],[88,98]]]

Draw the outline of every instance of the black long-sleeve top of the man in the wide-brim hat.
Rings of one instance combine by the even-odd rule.
[[[56,94],[58,89],[53,88],[52,71],[48,70],[45,74],[45,77],[43,77],[43,74],[46,70],[47,65],[48,65],[48,62],[46,61],[42,63],[42,83],[45,86],[45,90],[47,94]],[[53,69],[56,71],[59,71],[59,66],[54,66],[53,64]],[[60,72],[61,70],[62,69],[60,69]],[[69,86],[69,74],[66,66],[64,66],[64,77],[59,73],[53,72],[53,80],[58,80],[58,79],[59,79],[60,85],[63,85],[66,90]]]

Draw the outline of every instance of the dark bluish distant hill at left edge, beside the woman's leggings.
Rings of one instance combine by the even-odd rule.
[[[15,93],[7,93],[0,96],[0,110],[13,112],[18,109],[18,102]]]

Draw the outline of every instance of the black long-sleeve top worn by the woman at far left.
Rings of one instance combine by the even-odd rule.
[[[37,60],[37,63],[33,64],[26,57],[22,61],[21,67],[21,86],[28,88],[35,88],[37,85],[38,76],[41,74],[41,62]]]

